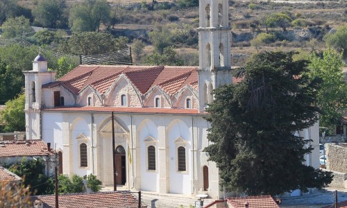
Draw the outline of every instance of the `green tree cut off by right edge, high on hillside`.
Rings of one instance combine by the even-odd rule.
[[[323,40],[328,47],[337,49],[344,54],[344,58],[347,57],[347,24],[339,26],[335,33],[324,35]]]

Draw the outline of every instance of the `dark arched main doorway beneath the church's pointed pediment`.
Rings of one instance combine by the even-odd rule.
[[[116,184],[126,184],[126,150],[119,145],[115,150],[116,156]]]

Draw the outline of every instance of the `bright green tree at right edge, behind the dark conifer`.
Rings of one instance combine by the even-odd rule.
[[[332,49],[323,51],[323,57],[312,54],[309,65],[309,75],[312,78],[321,78],[321,87],[316,90],[316,105],[321,107],[319,123],[321,126],[332,128],[339,124],[341,110],[347,107],[347,84],[344,81],[341,54]]]

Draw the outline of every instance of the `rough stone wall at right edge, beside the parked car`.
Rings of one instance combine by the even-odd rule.
[[[347,144],[325,144],[327,168],[330,171],[347,173]]]

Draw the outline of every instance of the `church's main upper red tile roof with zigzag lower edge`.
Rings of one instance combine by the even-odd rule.
[[[123,75],[141,94],[145,94],[151,87],[159,86],[171,95],[185,85],[196,88],[197,69],[198,67],[79,65],[55,83],[48,83],[42,88],[62,85],[72,94],[78,94],[87,85],[90,85],[99,93],[104,94],[112,83]]]

